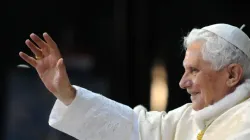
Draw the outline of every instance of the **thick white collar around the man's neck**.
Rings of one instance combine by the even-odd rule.
[[[246,100],[250,96],[250,79],[245,80],[239,85],[234,92],[228,94],[220,101],[213,105],[203,108],[202,110],[192,110],[192,115],[200,129],[206,128],[219,115]]]

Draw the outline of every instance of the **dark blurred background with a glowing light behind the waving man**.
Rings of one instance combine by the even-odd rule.
[[[55,97],[26,64],[24,41],[48,32],[72,84],[131,108],[169,111],[190,102],[179,88],[183,37],[192,28],[228,23],[249,34],[249,4],[187,0],[12,0],[3,5],[1,127],[4,140],[73,140],[49,127]]]

